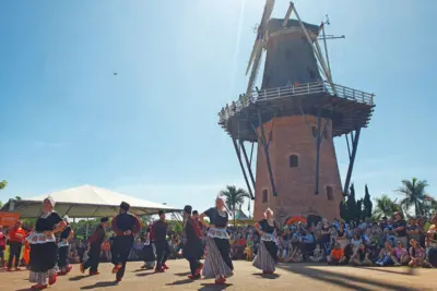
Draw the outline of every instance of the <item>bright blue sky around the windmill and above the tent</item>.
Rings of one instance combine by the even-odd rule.
[[[437,2],[295,1],[328,13],[335,83],[376,94],[358,195],[428,180],[437,195]],[[283,17],[288,1],[277,0]],[[0,9],[0,201],[93,184],[204,209],[244,186],[221,107],[246,89],[264,0],[9,1]],[[118,72],[117,76],[113,72]],[[346,146],[336,138],[344,181]],[[395,196],[395,194],[392,194]]]

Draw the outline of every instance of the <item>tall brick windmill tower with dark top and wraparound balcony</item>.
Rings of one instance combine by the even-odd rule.
[[[270,19],[273,5],[274,0],[267,0],[247,68],[247,90],[222,108],[218,123],[232,137],[255,198],[255,219],[267,207],[279,220],[309,214],[338,218],[350,187],[361,129],[367,126],[375,106],[374,95],[332,82],[318,44],[319,34],[324,36],[323,24],[302,22],[293,2],[284,19]],[[290,19],[293,12],[296,20]],[[264,51],[258,88],[255,84]],[[350,157],[343,187],[333,144],[333,137],[341,135],[346,136]],[[250,155],[245,142],[252,143]]]

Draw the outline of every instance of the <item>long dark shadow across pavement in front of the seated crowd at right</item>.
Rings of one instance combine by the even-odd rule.
[[[320,266],[320,265],[319,265]],[[288,266],[280,266],[281,269],[306,276],[312,280],[320,280],[323,282],[336,284],[342,288],[346,288],[354,291],[374,291],[375,289],[393,290],[393,291],[420,291],[423,289],[416,289],[412,287],[405,287],[402,284],[391,283],[381,281],[375,278],[352,276],[344,272],[334,272],[323,269],[308,268],[308,265],[292,264]],[[363,286],[363,284],[366,284]]]

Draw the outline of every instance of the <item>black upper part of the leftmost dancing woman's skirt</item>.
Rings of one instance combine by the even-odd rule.
[[[46,272],[58,263],[58,245],[55,242],[31,244],[31,270]]]

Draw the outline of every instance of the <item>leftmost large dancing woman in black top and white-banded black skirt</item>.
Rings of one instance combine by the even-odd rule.
[[[56,264],[58,262],[58,246],[55,233],[61,232],[67,223],[54,211],[55,201],[51,197],[44,199],[43,214],[35,223],[34,232],[27,237],[31,244],[29,281],[32,289],[43,290],[47,284],[57,280]]]

